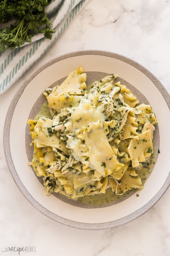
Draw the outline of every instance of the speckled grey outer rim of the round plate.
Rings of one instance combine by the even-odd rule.
[[[121,226],[123,224],[126,224],[128,222],[131,222],[132,220],[135,220],[136,218],[140,217],[143,215],[145,212],[147,212],[151,207],[153,207],[163,196],[163,194],[166,192],[170,185],[170,172],[162,185],[161,189],[154,195],[154,197],[148,201],[144,206],[136,210],[135,212],[132,212],[131,214],[120,218],[118,220],[110,221],[110,222],[103,222],[103,223],[83,223],[83,222],[76,222],[73,220],[69,220],[66,218],[63,218],[57,214],[54,214],[53,212],[49,211],[45,207],[43,207],[38,201],[36,201],[33,196],[27,191],[25,188],[24,184],[20,180],[20,177],[18,176],[15,166],[12,161],[12,156],[10,152],[10,140],[9,140],[9,135],[10,135],[10,124],[12,120],[12,116],[14,113],[14,109],[17,105],[18,99],[22,95],[25,87],[31,82],[34,77],[36,77],[41,71],[49,67],[50,65],[61,61],[63,59],[68,59],[70,57],[75,57],[75,56],[81,56],[81,55],[103,55],[106,57],[112,57],[114,59],[119,59],[121,61],[124,61],[128,63],[129,65],[137,68],[139,71],[141,71],[144,75],[146,75],[153,83],[154,85],[158,88],[160,93],[162,94],[169,110],[170,110],[170,96],[167,90],[164,88],[162,83],[145,67],[143,67],[141,64],[138,62],[134,61],[133,59],[130,59],[128,57],[125,57],[124,55],[120,55],[118,53],[113,53],[110,51],[102,51],[102,50],[84,50],[84,51],[74,51],[70,53],[66,53],[63,55],[60,55],[48,62],[46,62],[44,65],[42,65],[39,69],[37,69],[29,78],[22,84],[18,90],[16,91],[10,106],[7,111],[7,115],[5,118],[5,125],[4,125],[4,133],[3,133],[3,144],[4,144],[4,152],[5,152],[5,158],[7,161],[7,165],[10,171],[10,174],[12,178],[14,179],[17,187],[20,189],[24,197],[31,203],[37,210],[39,210],[42,214],[45,216],[51,218],[52,220],[55,220],[61,224],[65,224],[67,226],[73,227],[73,228],[79,228],[79,229],[86,229],[86,230],[103,230],[103,229],[108,229],[108,228],[113,228],[117,226]]]

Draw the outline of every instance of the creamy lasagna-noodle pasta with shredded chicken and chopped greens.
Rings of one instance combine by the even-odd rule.
[[[47,88],[50,118],[29,119],[34,146],[32,166],[43,176],[47,195],[71,199],[105,193],[123,195],[143,182],[135,171],[153,154],[150,105],[109,75],[86,87],[82,67],[60,86]]]

